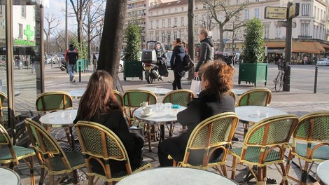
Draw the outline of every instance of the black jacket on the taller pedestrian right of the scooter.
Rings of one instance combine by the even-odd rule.
[[[211,38],[203,39],[200,43],[199,62],[195,71],[199,71],[201,65],[208,60],[214,60],[214,41]]]

